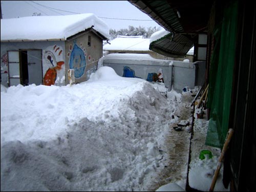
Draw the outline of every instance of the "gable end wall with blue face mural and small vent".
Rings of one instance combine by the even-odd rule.
[[[88,32],[69,39],[66,47],[66,69],[74,69],[75,83],[86,81],[97,70],[98,60],[103,55],[102,39],[95,33]],[[69,83],[66,73],[66,84]]]

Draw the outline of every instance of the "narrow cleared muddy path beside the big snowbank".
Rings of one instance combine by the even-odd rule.
[[[158,181],[155,181],[149,189],[151,191],[155,191],[160,186],[170,182],[177,183],[185,189],[189,142],[191,137],[191,133],[188,129],[189,127],[191,128],[193,115],[193,107],[190,107],[190,104],[193,101],[194,96],[195,93],[187,92],[182,95],[181,100],[178,102],[177,109],[174,113],[176,122],[173,122],[174,120],[170,120],[170,132],[166,140],[169,159],[167,160],[167,165],[164,171],[159,175]],[[184,126],[182,131],[175,131],[173,127],[177,126],[177,123],[181,120],[189,121],[189,127]]]

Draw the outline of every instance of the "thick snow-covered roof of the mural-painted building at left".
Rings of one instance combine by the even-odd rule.
[[[1,41],[66,40],[92,26],[109,38],[109,27],[93,13],[1,19]]]

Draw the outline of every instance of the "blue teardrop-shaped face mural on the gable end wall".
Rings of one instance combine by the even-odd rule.
[[[69,67],[70,69],[74,69],[75,78],[80,78],[84,74],[84,69],[86,69],[86,57],[84,56],[83,50],[77,45],[74,45],[71,52]]]

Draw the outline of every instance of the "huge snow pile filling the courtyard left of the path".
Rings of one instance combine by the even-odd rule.
[[[152,84],[109,67],[73,86],[1,86],[1,191],[147,190],[170,111]]]

